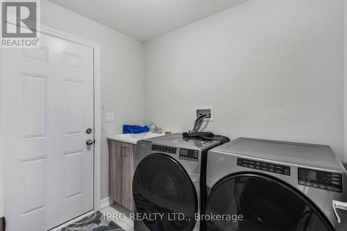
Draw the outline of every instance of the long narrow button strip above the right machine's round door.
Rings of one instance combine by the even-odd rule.
[[[269,171],[271,173],[278,173],[278,174],[290,176],[290,166],[272,164],[272,163],[261,162],[257,160],[247,160],[243,158],[237,158],[237,165],[244,166],[250,169]]]

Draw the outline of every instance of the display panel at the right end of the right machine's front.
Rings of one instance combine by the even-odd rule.
[[[298,184],[341,193],[342,174],[298,168]]]

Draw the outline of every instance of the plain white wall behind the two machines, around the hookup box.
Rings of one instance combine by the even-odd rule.
[[[145,43],[145,121],[329,144],[343,157],[341,0],[251,0]]]

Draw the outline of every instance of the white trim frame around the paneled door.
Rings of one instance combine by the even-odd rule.
[[[71,35],[62,31],[58,31],[48,26],[40,26],[41,28],[37,31],[53,37],[58,37],[62,40],[74,42],[84,46],[89,46],[93,49],[93,62],[94,62],[94,211],[100,209],[100,181],[101,181],[101,85],[100,85],[100,44],[84,40],[81,37]],[[10,48],[8,48],[10,49]],[[2,49],[0,49],[0,70],[2,70]],[[2,96],[2,78],[3,73],[0,71],[0,218],[3,216],[3,179],[5,172],[3,171],[3,162],[5,160],[3,153],[3,96]],[[74,219],[71,217],[71,219]]]

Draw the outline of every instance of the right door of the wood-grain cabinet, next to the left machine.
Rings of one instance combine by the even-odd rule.
[[[134,144],[123,144],[123,171],[124,171],[124,207],[133,211],[133,158],[136,150]]]

